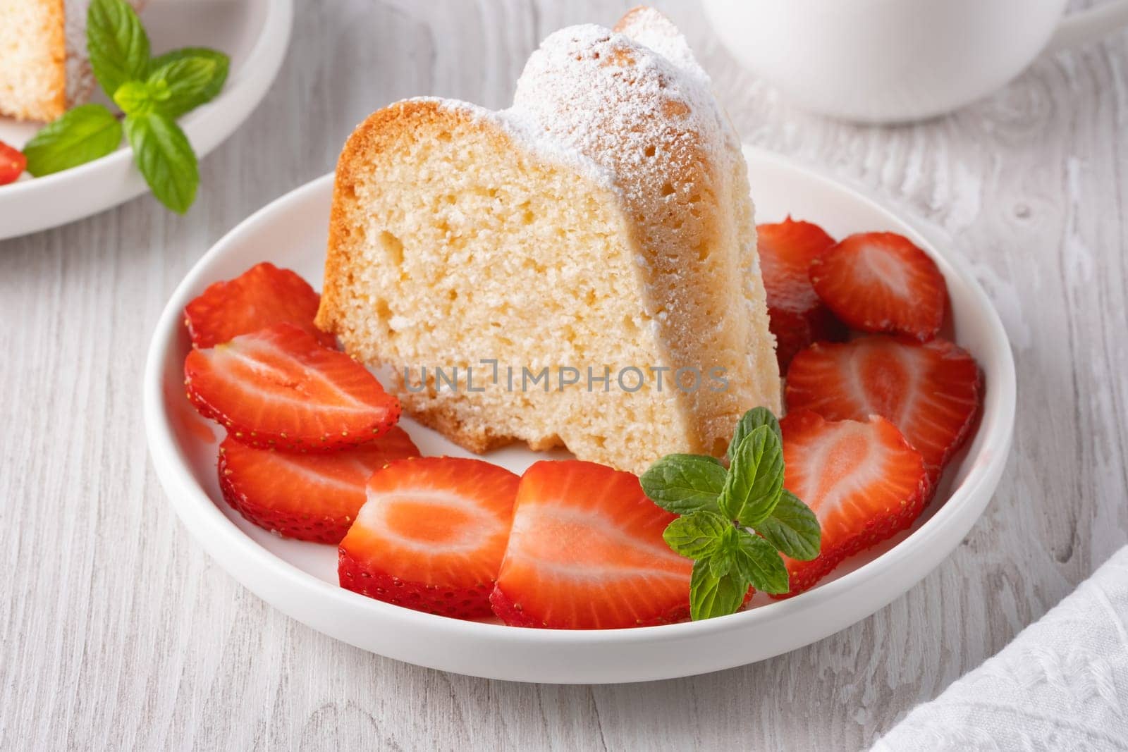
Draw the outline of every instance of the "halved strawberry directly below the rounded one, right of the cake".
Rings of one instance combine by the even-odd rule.
[[[812,345],[787,371],[788,409],[828,421],[891,421],[924,458],[934,486],[971,433],[982,391],[975,360],[950,342],[864,337]]]

